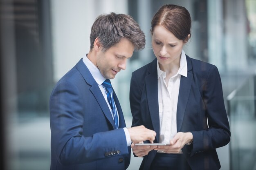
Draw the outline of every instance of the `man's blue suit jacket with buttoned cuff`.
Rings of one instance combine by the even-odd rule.
[[[50,97],[51,170],[124,170],[130,163],[121,106],[115,129],[106,100],[82,59]]]

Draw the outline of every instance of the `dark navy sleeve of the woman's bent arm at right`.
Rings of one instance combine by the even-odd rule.
[[[211,66],[202,88],[202,98],[208,120],[208,128],[192,131],[191,156],[225,146],[230,141],[229,122],[225,110],[220,74],[216,66]]]

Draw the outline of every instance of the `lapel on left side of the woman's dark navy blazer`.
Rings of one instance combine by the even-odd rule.
[[[157,88],[157,60],[155,59],[150,68],[149,74],[145,78],[146,94],[148,99],[148,108],[151,121],[155,132],[159,132],[159,107],[158,107],[158,88]],[[159,142],[159,133],[157,133],[157,142]]]

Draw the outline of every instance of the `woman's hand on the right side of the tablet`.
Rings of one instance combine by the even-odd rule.
[[[193,135],[191,132],[177,132],[177,134],[171,139],[170,145],[157,146],[154,150],[161,150],[165,153],[182,153],[184,145],[193,141]]]

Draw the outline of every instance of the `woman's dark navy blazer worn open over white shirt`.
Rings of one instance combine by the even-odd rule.
[[[181,76],[177,104],[177,132],[191,132],[193,144],[182,148],[192,170],[217,170],[216,148],[230,141],[220,75],[216,66],[186,56],[188,74]],[[144,125],[157,133],[159,108],[157,60],[132,73],[130,84],[132,126]],[[207,124],[208,120],[208,124]],[[144,157],[140,169],[148,170],[156,151]]]

